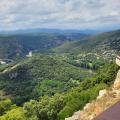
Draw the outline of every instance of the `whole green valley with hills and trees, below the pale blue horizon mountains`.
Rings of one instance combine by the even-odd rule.
[[[113,84],[119,38],[120,31],[0,37],[0,120],[64,120],[81,110]]]

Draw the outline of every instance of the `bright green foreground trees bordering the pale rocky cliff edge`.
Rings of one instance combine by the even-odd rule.
[[[37,101],[25,103],[23,107],[17,107],[10,100],[2,100],[0,120],[64,120],[95,99],[100,89],[109,87],[117,71],[118,67],[114,63],[105,65],[93,78],[81,82],[69,92],[56,93],[52,97],[43,96]],[[50,83],[43,83],[43,86]]]

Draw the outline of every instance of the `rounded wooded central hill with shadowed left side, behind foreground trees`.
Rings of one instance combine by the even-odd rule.
[[[35,55],[8,67],[1,74],[0,89],[12,95],[15,103],[21,104],[31,98],[66,92],[92,75],[88,70],[53,56]]]

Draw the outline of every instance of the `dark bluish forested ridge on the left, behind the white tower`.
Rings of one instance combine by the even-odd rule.
[[[0,36],[0,58],[24,56],[29,51],[47,51],[66,41],[79,40],[85,37],[81,33],[29,33]]]

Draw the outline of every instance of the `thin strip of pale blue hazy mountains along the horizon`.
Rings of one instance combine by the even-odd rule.
[[[21,35],[21,34],[36,34],[36,33],[82,33],[82,34],[96,34],[102,31],[99,30],[77,30],[77,29],[48,29],[48,28],[34,28],[34,29],[20,29],[11,31],[0,31],[1,35]]]

